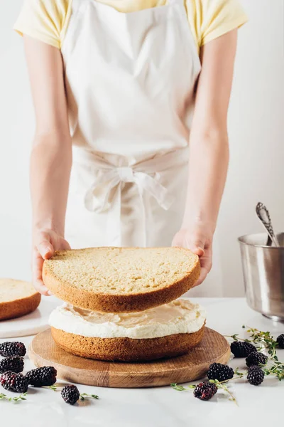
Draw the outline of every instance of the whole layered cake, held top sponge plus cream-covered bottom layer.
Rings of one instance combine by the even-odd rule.
[[[50,315],[55,342],[92,359],[136,362],[185,354],[202,339],[205,312],[177,298],[200,275],[182,248],[60,251],[43,264],[47,288],[65,304]]]

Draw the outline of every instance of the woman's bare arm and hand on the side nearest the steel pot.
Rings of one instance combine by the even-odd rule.
[[[212,239],[229,162],[227,112],[234,73],[237,31],[207,43],[201,52],[190,133],[189,181],[182,229],[173,245],[200,255],[203,282],[212,267]]]

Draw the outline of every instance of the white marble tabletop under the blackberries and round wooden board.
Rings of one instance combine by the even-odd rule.
[[[207,308],[207,326],[222,334],[244,334],[241,325],[284,333],[284,324],[253,312],[243,298],[195,298]],[[32,337],[21,337],[28,345]],[[16,340],[16,339],[13,339]],[[0,339],[4,342],[4,339]],[[278,352],[284,361],[284,350]],[[244,359],[230,362],[244,368]],[[32,364],[26,357],[26,369]],[[284,381],[267,377],[261,386],[239,379],[229,386],[238,406],[222,392],[211,401],[195,399],[192,391],[175,391],[170,386],[151,389],[107,389],[79,386],[81,392],[99,395],[98,401],[65,404],[60,391],[29,389],[27,401],[0,401],[0,425],[23,427],[197,427],[268,426],[283,422]],[[0,392],[6,392],[0,387]],[[9,392],[6,392],[9,394]],[[14,394],[10,394],[14,395]]]

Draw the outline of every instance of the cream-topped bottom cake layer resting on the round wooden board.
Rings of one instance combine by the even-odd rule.
[[[202,339],[205,311],[180,299],[136,313],[102,313],[70,304],[50,315],[55,342],[77,356],[124,362],[187,353]]]

